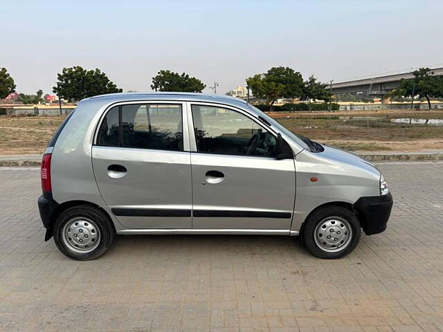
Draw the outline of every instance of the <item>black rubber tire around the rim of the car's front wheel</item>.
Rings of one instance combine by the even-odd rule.
[[[343,244],[343,248],[341,250],[339,250],[340,248],[337,247],[336,249],[331,248],[330,250],[338,251],[328,252],[325,251],[327,249],[324,249],[320,246],[321,243],[320,245],[316,243],[316,239],[314,237],[316,236],[315,232],[317,226],[329,219],[333,219],[333,217],[335,217],[336,219],[347,221],[352,230],[352,235],[346,241],[344,241],[345,244]],[[331,230],[331,232],[333,231],[334,230]],[[303,242],[305,243],[305,247],[309,252],[311,252],[312,255],[323,259],[341,258],[352,252],[352,250],[354,250],[355,247],[359,244],[361,237],[361,226],[359,223],[359,219],[357,219],[354,213],[352,213],[350,210],[347,210],[347,208],[343,208],[343,206],[338,205],[329,205],[323,208],[319,208],[308,217],[303,229],[302,237]],[[340,246],[339,243],[338,246]]]

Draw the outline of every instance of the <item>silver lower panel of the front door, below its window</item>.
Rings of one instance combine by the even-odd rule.
[[[194,228],[289,230],[296,194],[293,159],[194,153],[191,160]],[[224,174],[220,183],[206,181],[206,172],[213,169]],[[199,210],[218,211],[221,216],[198,216]],[[224,210],[259,215],[226,218]],[[260,212],[287,212],[288,216],[273,218]]]

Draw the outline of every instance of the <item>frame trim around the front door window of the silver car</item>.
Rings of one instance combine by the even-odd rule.
[[[255,124],[257,124],[257,126],[262,127],[263,129],[265,129],[266,131],[271,133],[275,137],[275,139],[277,139],[277,136],[278,136],[278,133],[275,133],[273,128],[263,126],[262,124],[264,124],[264,123],[261,122],[258,117],[252,116],[250,113],[243,111],[242,109],[238,109],[237,107],[233,107],[233,106],[226,105],[226,104],[213,104],[213,103],[209,103],[209,102],[207,104],[205,102],[189,102],[189,112],[190,112],[190,117],[192,119],[192,128],[189,128],[188,131],[190,133],[192,132],[191,138],[193,138],[194,145],[195,145],[195,151],[191,151],[192,154],[210,154],[213,156],[235,156],[235,157],[248,157],[248,158],[277,159],[275,156],[242,156],[239,154],[217,154],[214,152],[199,151],[198,150],[199,148],[197,146],[197,138],[195,137],[194,115],[192,114],[192,106],[194,106],[194,105],[195,106],[204,106],[204,107],[218,107],[219,109],[228,109],[230,111],[240,113],[243,116],[246,116],[246,118],[249,118],[251,121],[255,122]],[[291,151],[291,154],[292,154],[292,157],[291,157],[291,159],[292,159],[293,158],[293,151],[291,149],[291,145],[289,145],[289,143],[286,142],[286,140],[283,140],[283,141],[284,141],[284,143],[286,143],[289,146],[289,150]],[[191,150],[192,150],[192,145],[191,145]]]

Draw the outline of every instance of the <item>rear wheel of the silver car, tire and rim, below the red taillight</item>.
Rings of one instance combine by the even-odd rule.
[[[72,259],[96,259],[106,252],[113,240],[114,227],[109,216],[93,206],[69,208],[55,221],[55,244]]]

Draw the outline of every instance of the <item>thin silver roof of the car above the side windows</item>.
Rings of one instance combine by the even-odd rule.
[[[182,100],[199,102],[220,102],[230,104],[231,102],[246,104],[245,100],[231,97],[230,95],[216,95],[210,93],[190,93],[190,92],[130,92],[130,93],[109,93],[107,95],[96,95],[87,100],[102,100],[103,102],[125,102],[131,100]]]

